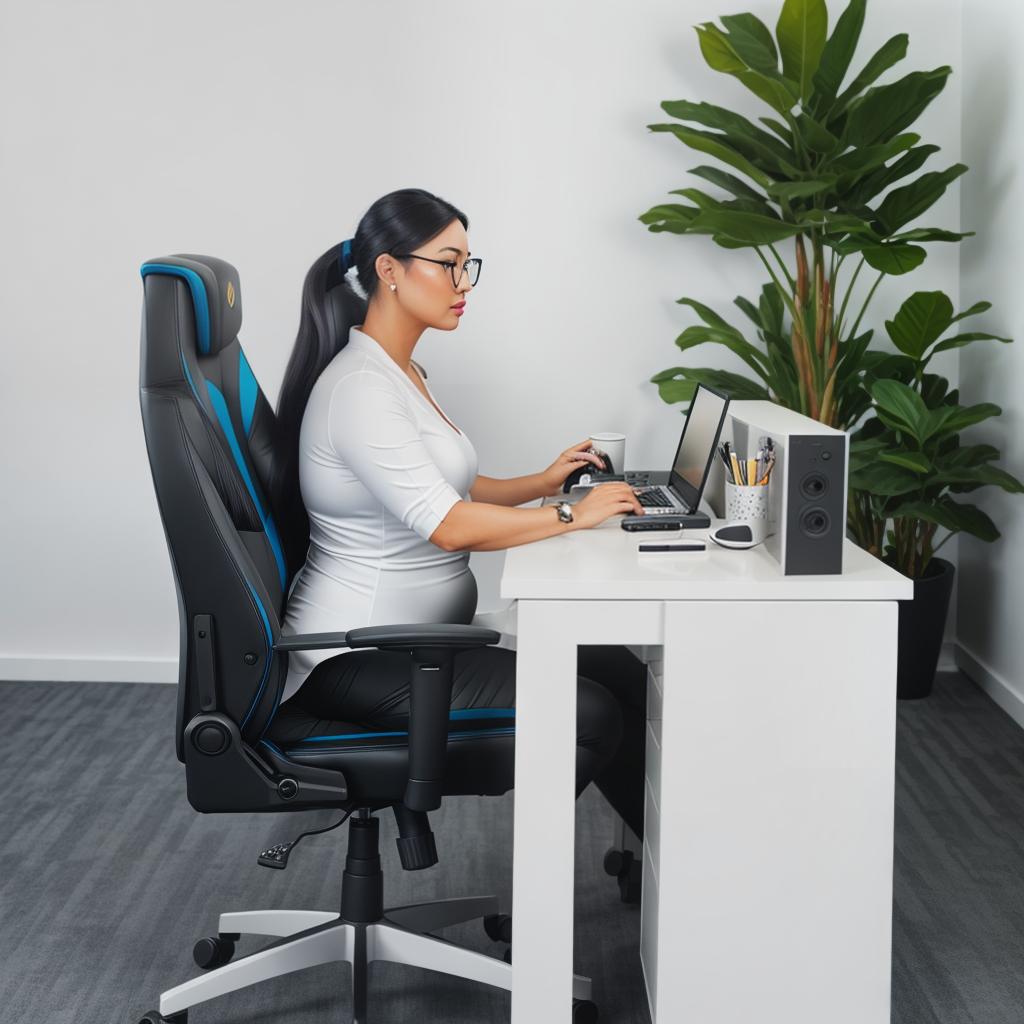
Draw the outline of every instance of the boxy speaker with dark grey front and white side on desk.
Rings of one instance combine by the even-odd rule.
[[[729,404],[722,440],[739,456],[755,456],[759,439],[775,445],[768,483],[768,538],[765,547],[785,575],[841,573],[846,538],[849,437],[808,416],[770,401]],[[709,480],[712,494],[724,492],[721,460]],[[717,478],[717,479],[716,479]],[[715,511],[722,515],[724,501]]]

